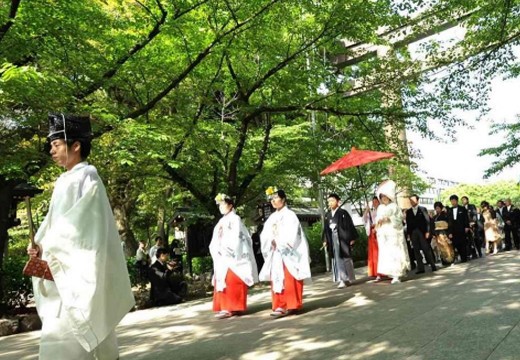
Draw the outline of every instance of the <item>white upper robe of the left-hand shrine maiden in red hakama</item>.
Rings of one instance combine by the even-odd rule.
[[[215,226],[209,252],[213,258],[213,286],[217,291],[226,288],[228,269],[247,286],[258,282],[253,242],[234,210],[224,215]]]

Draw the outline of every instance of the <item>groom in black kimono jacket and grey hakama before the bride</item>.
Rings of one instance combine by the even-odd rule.
[[[327,198],[330,210],[325,215],[322,239],[332,259],[332,280],[339,283],[338,288],[344,288],[356,280],[352,246],[359,235],[350,214],[339,207],[339,202],[337,194]]]

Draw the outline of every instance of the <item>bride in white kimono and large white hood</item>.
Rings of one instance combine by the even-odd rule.
[[[381,200],[377,208],[376,231],[379,257],[377,272],[392,278],[392,284],[401,282],[401,277],[410,270],[410,261],[403,231],[401,209],[395,203],[396,184],[392,180],[382,182],[376,194]]]

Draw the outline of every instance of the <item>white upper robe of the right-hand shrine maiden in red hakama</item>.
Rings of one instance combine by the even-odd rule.
[[[273,249],[273,240],[276,249]],[[298,217],[287,206],[269,216],[260,242],[265,263],[259,278],[260,281],[272,281],[275,293],[284,290],[284,264],[296,280],[310,280],[309,245]]]

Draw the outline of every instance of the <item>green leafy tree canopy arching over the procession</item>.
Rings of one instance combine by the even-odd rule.
[[[352,146],[394,151],[393,166],[408,169],[413,158],[399,131],[431,135],[432,119],[446,128],[460,121],[453,109],[485,110],[489,76],[516,66],[517,8],[462,0],[0,0],[0,186],[30,179],[50,188],[57,170],[45,154],[47,113],[75,112],[92,115],[90,160],[129,242],[175,207],[216,216],[218,192],[249,208],[269,185],[311,198],[320,188],[343,189],[357,201],[355,172],[322,179],[319,171]],[[446,19],[464,21],[466,38],[449,51],[428,43],[425,68],[403,44]],[[406,26],[413,31],[398,42],[381,35]],[[389,50],[339,66],[338,55],[357,56],[345,44]],[[472,79],[475,69],[481,76]],[[387,165],[363,169],[368,189],[388,176]],[[422,186],[410,170],[395,176]]]

